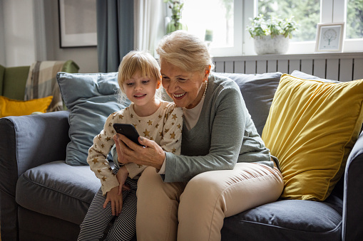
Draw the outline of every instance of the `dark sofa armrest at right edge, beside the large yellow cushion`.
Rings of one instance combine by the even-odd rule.
[[[354,144],[344,173],[342,240],[363,240],[363,132]]]

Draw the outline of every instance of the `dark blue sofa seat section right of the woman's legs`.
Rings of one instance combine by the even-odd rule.
[[[340,240],[342,208],[327,202],[279,200],[225,218],[223,240]]]

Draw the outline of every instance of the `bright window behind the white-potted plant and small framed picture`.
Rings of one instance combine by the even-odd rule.
[[[266,15],[278,12],[282,17],[293,14],[300,23],[300,31],[290,42],[288,54],[314,53],[317,23],[345,22],[347,38],[343,51],[363,50],[362,0],[245,0],[244,24],[248,25],[248,18],[257,16],[259,11]],[[255,55],[253,48],[249,48],[252,45],[252,38],[245,31],[243,54]]]

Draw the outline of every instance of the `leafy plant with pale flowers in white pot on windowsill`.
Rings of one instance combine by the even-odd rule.
[[[260,14],[255,18],[250,18],[250,21],[251,25],[247,26],[247,31],[254,39],[257,54],[287,52],[292,32],[297,30],[294,16],[285,19],[272,17],[265,20],[263,14]]]

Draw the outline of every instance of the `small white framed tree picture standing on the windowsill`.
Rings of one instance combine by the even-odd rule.
[[[344,23],[318,23],[315,52],[342,52]]]

